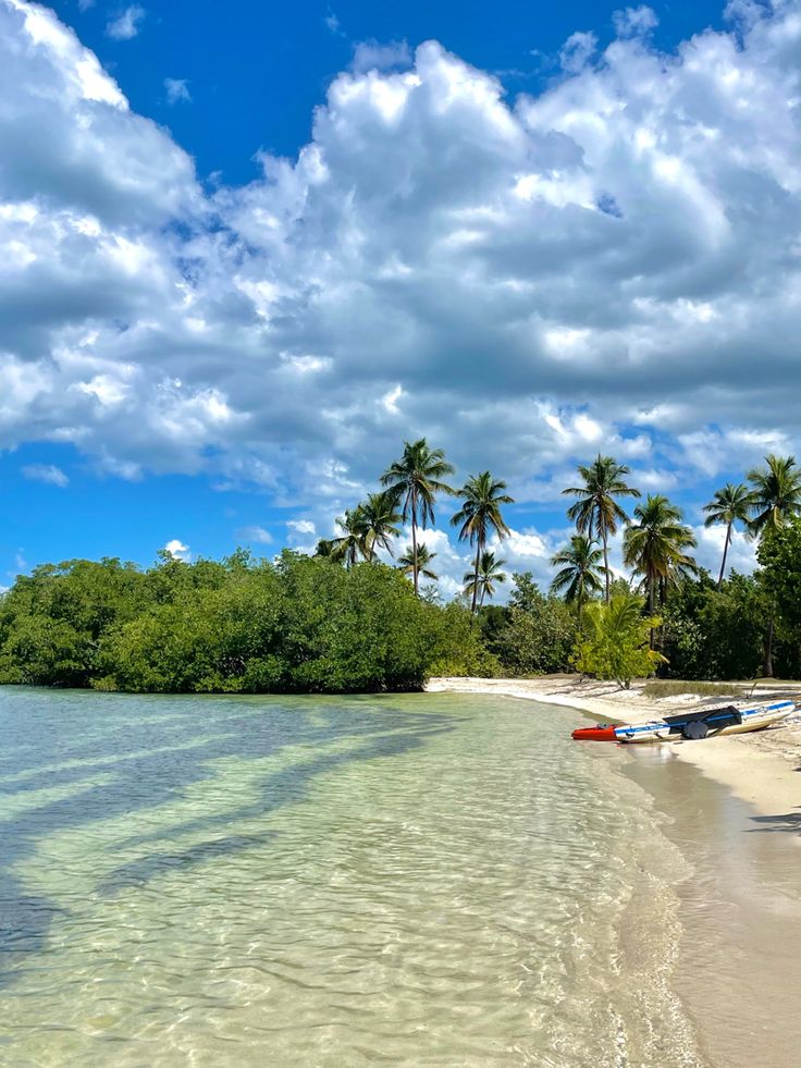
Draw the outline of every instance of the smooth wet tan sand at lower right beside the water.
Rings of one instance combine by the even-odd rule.
[[[799,1063],[801,879],[793,826],[756,814],[667,747],[629,747],[626,774],[665,813],[692,874],[671,985],[715,1068]],[[666,774],[667,772],[667,774]]]

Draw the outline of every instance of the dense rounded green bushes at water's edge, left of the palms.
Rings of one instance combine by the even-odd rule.
[[[415,597],[398,570],[285,551],[222,563],[164,555],[140,572],[67,561],[0,602],[0,682],[156,692],[373,691],[432,673],[492,674],[459,604]]]

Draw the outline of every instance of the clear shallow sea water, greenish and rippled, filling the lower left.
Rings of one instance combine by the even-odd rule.
[[[691,868],[574,720],[0,689],[0,1063],[713,1064]]]

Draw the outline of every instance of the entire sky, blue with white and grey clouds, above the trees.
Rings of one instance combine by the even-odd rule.
[[[0,586],[310,548],[421,434],[514,568],[599,451],[714,567],[798,447],[799,2],[221,7],[0,0]]]

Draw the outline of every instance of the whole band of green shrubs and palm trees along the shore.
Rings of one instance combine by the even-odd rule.
[[[143,569],[113,557],[44,564],[0,600],[0,683],[138,692],[359,692],[420,689],[431,676],[526,678],[577,672],[628,687],[665,679],[801,675],[801,469],[768,455],[705,506],[725,527],[715,577],[663,494],[611,456],[579,466],[564,494],[576,533],[547,590],[508,581],[500,547],[513,499],[490,471],[455,487],[426,439],[406,442],[379,487],[337,519],[313,556],[237,550]],[[449,512],[447,503],[453,501]],[[628,502],[633,503],[629,513]],[[443,512],[470,545],[460,597],[443,603],[420,532]],[[398,545],[408,526],[410,544]],[[753,575],[726,574],[732,531],[757,543]],[[625,575],[609,565],[623,531]]]

